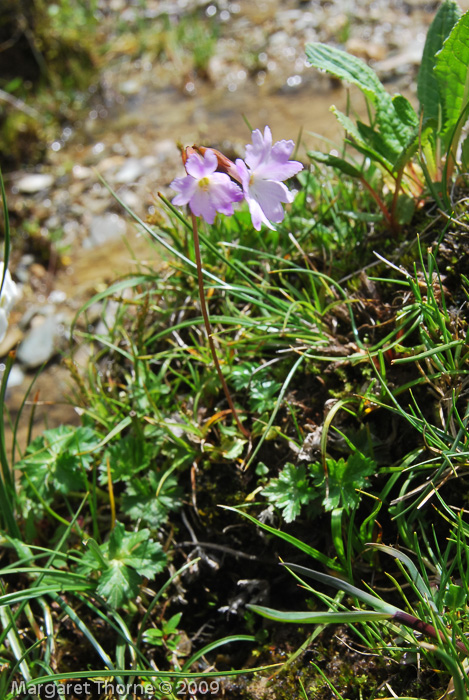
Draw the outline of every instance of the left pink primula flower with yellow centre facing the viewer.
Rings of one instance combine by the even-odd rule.
[[[217,157],[209,148],[203,156],[192,153],[186,161],[187,175],[177,177],[170,185],[179,192],[173,204],[189,204],[191,212],[208,224],[213,224],[217,212],[231,216],[233,202],[243,199],[241,188],[225,173],[215,172],[217,167]]]

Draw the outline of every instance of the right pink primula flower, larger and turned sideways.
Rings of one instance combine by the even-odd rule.
[[[303,169],[298,161],[289,160],[293,148],[293,141],[277,141],[272,146],[272,132],[266,126],[264,136],[259,129],[252,132],[252,145],[246,146],[245,161],[240,158],[236,161],[256,231],[260,231],[262,224],[275,230],[271,221],[283,221],[282,203],[293,201],[293,194],[282,182]]]

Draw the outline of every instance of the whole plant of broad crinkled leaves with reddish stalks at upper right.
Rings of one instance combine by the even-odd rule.
[[[469,13],[460,15],[454,0],[445,0],[428,31],[418,79],[421,122],[409,101],[402,95],[391,98],[362,60],[335,47],[306,46],[312,66],[356,85],[374,112],[371,123],[364,124],[333,109],[347,132],[345,144],[363,156],[362,164],[345,151],[341,157],[315,151],[309,155],[360,180],[395,230],[411,220],[413,200],[425,185],[440,206],[450,208],[447,185],[468,117]],[[365,170],[366,159],[381,173],[378,186]]]

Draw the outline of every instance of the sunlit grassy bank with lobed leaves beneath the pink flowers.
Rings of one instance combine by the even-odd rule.
[[[191,224],[169,203],[158,227],[127,210],[167,266],[142,266],[77,315],[74,340],[90,349],[84,374],[69,360],[82,425],[14,440],[11,459],[0,451],[5,693],[20,677],[65,677],[64,656],[67,677],[208,681],[225,644],[240,643],[240,665],[251,644],[270,662],[280,621],[319,625],[304,632],[313,650],[324,626],[347,625],[347,643],[379,659],[368,685],[347,688],[345,667],[329,678],[322,658],[310,681],[298,650],[300,697],[400,697],[394,669],[406,658],[429,685],[466,696],[466,185],[454,215],[428,211],[425,231],[405,238],[364,171],[340,167],[340,178],[317,166],[300,175],[276,231],[256,232],[245,210],[201,226],[202,268]],[[207,347],[198,272],[249,450]],[[87,316],[98,302],[99,334]],[[290,574],[271,575],[268,563],[292,553]],[[304,610],[279,610],[295,579]],[[202,640],[223,615],[235,634]],[[76,668],[85,656],[93,671]]]

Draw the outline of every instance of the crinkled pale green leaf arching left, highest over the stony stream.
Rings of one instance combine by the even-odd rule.
[[[336,78],[356,85],[376,108],[377,126],[395,157],[408,139],[408,126],[404,124],[389,93],[376,73],[364,61],[325,44],[306,44],[306,57],[312,66],[326,71]]]

